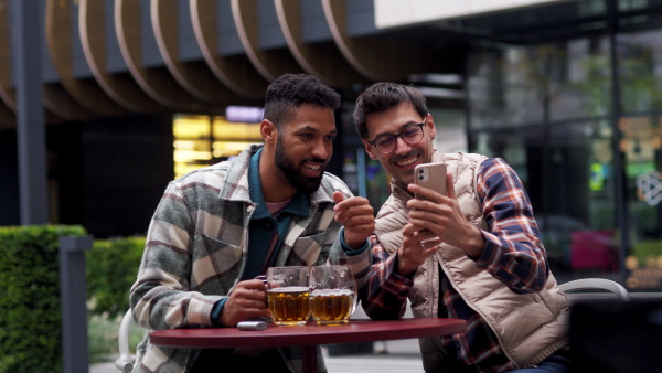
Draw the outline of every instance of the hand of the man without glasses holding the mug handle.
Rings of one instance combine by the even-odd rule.
[[[261,280],[250,279],[238,283],[229,294],[221,311],[221,323],[236,327],[239,321],[267,315],[267,287]]]

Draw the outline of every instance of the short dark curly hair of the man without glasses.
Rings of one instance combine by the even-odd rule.
[[[319,78],[306,74],[284,74],[267,88],[265,119],[280,128],[291,120],[295,109],[302,104],[340,107],[340,95]]]

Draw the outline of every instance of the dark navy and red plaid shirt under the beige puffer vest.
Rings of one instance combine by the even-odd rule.
[[[501,159],[488,159],[480,166],[477,189],[490,225],[490,232],[483,231],[487,244],[480,257],[474,258],[477,265],[514,292],[540,290],[548,275],[545,249],[515,171]],[[373,267],[362,288],[363,307],[374,319],[401,318],[414,281],[394,271],[397,254],[388,255],[375,235],[370,241]],[[457,350],[460,365],[474,364],[480,372],[515,369],[488,323],[465,302],[442,273],[440,277],[444,307],[439,309],[447,313],[439,317],[467,320],[466,332],[442,338],[445,348]]]

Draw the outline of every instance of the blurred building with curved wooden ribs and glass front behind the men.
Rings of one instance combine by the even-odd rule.
[[[21,113],[43,111],[47,222],[143,234],[170,180],[260,140],[288,72],[342,95],[330,171],[378,209],[388,180],[351,114],[395,81],[426,95],[438,149],[514,167],[557,277],[662,290],[662,0],[26,3],[0,0],[0,225],[25,224],[32,193]],[[41,43],[32,74],[20,30]]]

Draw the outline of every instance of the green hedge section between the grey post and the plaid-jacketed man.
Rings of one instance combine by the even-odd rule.
[[[108,317],[124,315],[129,308],[129,289],[136,281],[145,237],[97,239],[85,253],[87,298],[89,311],[107,312]]]

